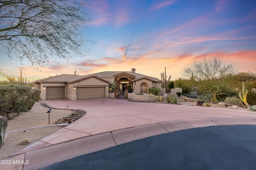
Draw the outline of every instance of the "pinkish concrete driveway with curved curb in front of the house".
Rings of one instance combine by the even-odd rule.
[[[86,115],[11,155],[1,169],[35,170],[146,137],[217,125],[256,125],[256,113],[234,109],[99,98],[46,100],[56,108],[84,109]],[[20,160],[14,164],[13,160]],[[23,161],[23,162],[22,162]],[[23,163],[23,164],[22,164]]]

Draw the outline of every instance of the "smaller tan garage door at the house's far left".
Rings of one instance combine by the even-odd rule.
[[[65,87],[46,87],[46,100],[64,99]]]

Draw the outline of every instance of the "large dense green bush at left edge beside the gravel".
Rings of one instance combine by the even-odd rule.
[[[40,90],[18,84],[0,85],[0,115],[11,119],[32,108]]]

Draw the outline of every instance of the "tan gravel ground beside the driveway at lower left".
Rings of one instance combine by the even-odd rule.
[[[24,129],[28,127],[35,127],[41,125],[49,125],[48,113],[46,113],[49,108],[42,107],[40,105],[42,102],[36,102],[32,109],[27,112],[23,112],[19,117],[15,117],[8,121],[7,132],[17,129]],[[50,113],[50,124],[62,117],[70,115],[73,111],[66,109],[52,109]],[[35,129],[29,129],[24,131],[17,131],[8,133],[4,145],[0,147],[0,159],[4,159],[9,155],[18,152],[19,150],[35,143],[36,141],[47,137],[48,135],[62,129],[62,127],[41,127]],[[28,145],[19,145],[22,139],[30,139]]]

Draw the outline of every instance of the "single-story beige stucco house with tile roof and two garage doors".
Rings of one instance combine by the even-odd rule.
[[[152,86],[161,88],[162,81],[158,78],[135,71],[132,68],[132,71],[104,71],[83,76],[61,74],[34,81],[34,88],[41,90],[41,100],[108,98],[115,81],[119,91],[127,85],[132,86],[134,94],[148,93]]]

